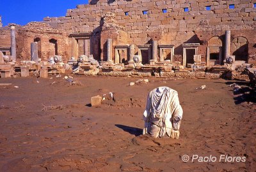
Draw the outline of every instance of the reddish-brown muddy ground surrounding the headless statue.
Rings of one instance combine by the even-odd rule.
[[[0,80],[12,83],[0,87],[0,171],[255,171],[255,104],[234,98],[234,81],[74,77],[81,86],[63,76]],[[141,136],[147,94],[159,86],[179,92],[179,140]],[[90,107],[91,96],[109,92],[115,101]]]

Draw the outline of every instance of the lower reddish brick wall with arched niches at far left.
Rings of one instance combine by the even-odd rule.
[[[10,27],[1,27],[0,29],[0,47],[11,47]],[[27,25],[15,27],[16,32],[16,50],[19,60],[30,60],[31,43],[38,42],[38,57],[47,60],[56,53],[67,61],[71,57],[71,43],[68,36],[60,29],[52,29],[49,25],[40,22],[31,22]],[[52,46],[51,39],[56,40],[56,50]]]

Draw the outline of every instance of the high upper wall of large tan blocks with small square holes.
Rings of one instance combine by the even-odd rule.
[[[121,0],[113,3],[99,0],[96,4],[90,3],[67,10],[66,17],[47,17],[44,21],[68,32],[92,32],[99,27],[102,15],[110,11],[115,13],[118,24],[125,26],[125,31],[138,37],[152,26],[160,27],[165,32],[176,31],[176,36],[179,36],[186,31],[196,30],[202,22],[223,28],[239,26],[232,29],[255,27],[256,22],[255,0]],[[234,9],[228,9],[229,4],[234,4]],[[205,10],[205,6],[211,6],[211,10]],[[186,7],[188,12],[184,12]],[[167,12],[163,13],[163,9]],[[143,15],[143,10],[148,10],[148,14]],[[129,15],[125,16],[125,12]]]

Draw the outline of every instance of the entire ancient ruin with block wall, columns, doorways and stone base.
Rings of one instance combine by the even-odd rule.
[[[33,61],[33,69],[51,73],[248,78],[243,69],[256,64],[255,16],[251,0],[90,0],[65,17],[1,27],[0,50],[15,68]],[[51,66],[56,55],[62,61]]]

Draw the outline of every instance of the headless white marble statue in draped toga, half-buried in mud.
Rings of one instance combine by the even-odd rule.
[[[178,139],[182,113],[176,90],[158,87],[150,91],[143,113],[143,134],[150,134],[154,138],[161,138],[167,134],[170,138]]]

